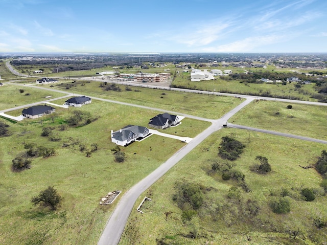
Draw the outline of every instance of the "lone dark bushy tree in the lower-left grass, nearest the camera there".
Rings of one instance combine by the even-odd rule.
[[[43,203],[45,206],[50,206],[53,210],[56,210],[60,205],[62,198],[57,193],[57,190],[53,188],[53,186],[49,186],[45,190],[41,191],[38,196],[34,196],[31,199],[31,202],[34,205],[38,205],[39,203]]]

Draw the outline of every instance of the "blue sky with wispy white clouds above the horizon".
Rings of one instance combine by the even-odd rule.
[[[0,52],[327,52],[326,0],[0,0]]]

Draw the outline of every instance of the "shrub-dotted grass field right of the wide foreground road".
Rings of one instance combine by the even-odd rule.
[[[241,157],[230,163],[245,174],[245,182],[251,189],[248,193],[236,181],[223,181],[221,173],[208,174],[212,164],[220,159],[217,153],[223,136],[246,145]],[[305,202],[300,195],[301,188],[305,187],[323,193],[319,186],[322,177],[314,168],[299,166],[314,164],[323,149],[326,149],[323,144],[222,129],[202,142],[138,198],[135,209],[144,196],[152,201],[143,205],[144,214],[133,209],[120,244],[315,244],[309,237],[323,241],[327,230],[317,229],[314,219],[327,217],[327,197],[322,195],[313,202]],[[250,171],[257,155],[268,159],[272,168],[270,173]],[[203,205],[191,221],[182,221],[182,211],[173,201],[175,184],[180,182],[199,184],[205,193]],[[240,191],[240,201],[227,197],[231,187]],[[269,203],[276,198],[273,193],[281,193],[283,189],[291,193],[292,197],[287,197],[291,211],[275,214]],[[241,215],[248,200],[259,207],[259,213],[249,219]],[[240,206],[240,203],[244,205]],[[298,237],[290,238],[290,232],[297,230]],[[190,232],[198,237],[192,238]]]

